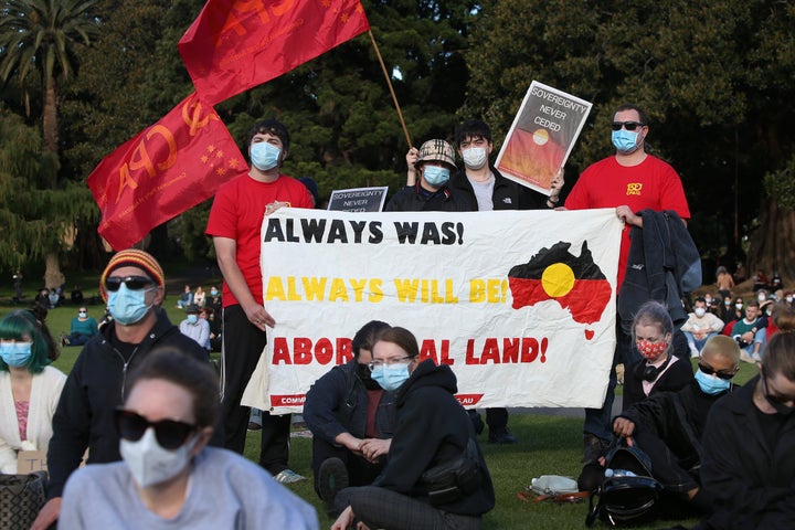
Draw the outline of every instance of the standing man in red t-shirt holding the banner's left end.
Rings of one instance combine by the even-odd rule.
[[[248,409],[241,406],[259,354],[266,326],[276,322],[263,305],[259,252],[263,218],[280,206],[312,208],[299,181],[282,174],[289,132],[275,119],[257,123],[248,134],[252,167],[221,187],[213,201],[206,235],[212,236],[223,274],[222,406],[225,446],[242,454]],[[303,479],[288,465],[290,416],[263,412],[259,464],[280,483]]]

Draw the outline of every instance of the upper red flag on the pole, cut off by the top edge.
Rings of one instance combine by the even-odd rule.
[[[215,105],[369,29],[359,0],[209,0],[179,51],[197,92]]]

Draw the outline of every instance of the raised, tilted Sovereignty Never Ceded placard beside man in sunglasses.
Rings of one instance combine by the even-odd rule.
[[[549,195],[552,179],[565,166],[591,106],[533,81],[495,166],[505,177]]]

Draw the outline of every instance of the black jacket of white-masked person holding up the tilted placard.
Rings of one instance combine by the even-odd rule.
[[[512,180],[506,179],[495,167],[491,167],[495,176],[495,188],[491,193],[491,202],[495,210],[543,210],[545,198],[531,189],[521,186]],[[451,177],[447,184],[453,190],[456,201],[462,204],[462,211],[477,212],[477,198],[475,190],[466,177],[466,170],[458,170]]]

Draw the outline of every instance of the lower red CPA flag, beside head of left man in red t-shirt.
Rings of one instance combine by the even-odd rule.
[[[97,230],[115,250],[128,248],[246,169],[219,115],[193,93],[88,176]]]

